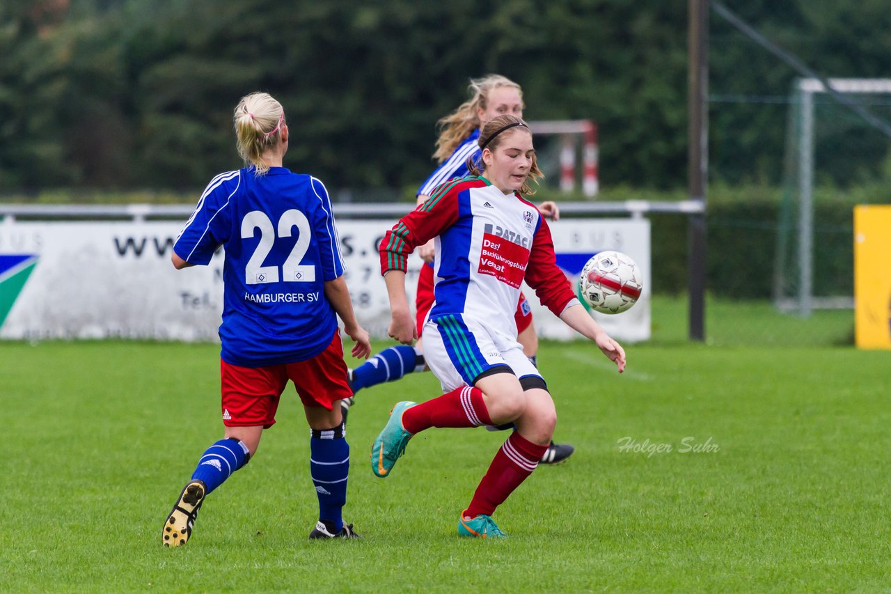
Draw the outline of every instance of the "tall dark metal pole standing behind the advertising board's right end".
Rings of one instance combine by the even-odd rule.
[[[691,200],[702,202],[700,213],[689,219],[687,268],[690,295],[690,340],[706,337],[706,185],[708,176],[708,0],[688,0],[689,77],[687,81],[690,114],[688,184]]]

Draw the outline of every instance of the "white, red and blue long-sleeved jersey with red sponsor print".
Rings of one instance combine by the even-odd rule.
[[[434,237],[431,320],[462,314],[514,342],[513,314],[524,279],[557,316],[577,303],[557,268],[544,217],[518,193],[503,194],[484,177],[446,182],[400,219],[380,242],[381,271],[405,270],[406,256]]]

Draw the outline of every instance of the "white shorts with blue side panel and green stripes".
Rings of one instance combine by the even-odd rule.
[[[510,367],[518,378],[542,376],[516,339],[504,341],[460,314],[428,319],[423,336],[424,360],[443,392],[473,385],[479,375],[498,366]]]

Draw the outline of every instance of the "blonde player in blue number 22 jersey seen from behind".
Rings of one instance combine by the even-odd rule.
[[[311,430],[310,474],[319,518],[310,539],[356,538],[344,524],[349,446],[340,400],[347,384],[338,320],[354,357],[371,354],[356,322],[331,213],[315,177],[282,167],[289,129],[266,93],[241,98],[234,113],[238,152],[248,165],[214,177],[174,245],[177,269],[206,265],[220,246],[223,323],[220,412],[224,439],[200,457],[161,532],[168,547],[192,536],[204,499],[257,452],[289,380]]]

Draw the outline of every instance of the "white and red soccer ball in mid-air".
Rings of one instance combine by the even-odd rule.
[[[621,313],[641,296],[642,275],[634,260],[622,252],[600,252],[582,268],[578,294],[591,309]]]

